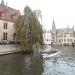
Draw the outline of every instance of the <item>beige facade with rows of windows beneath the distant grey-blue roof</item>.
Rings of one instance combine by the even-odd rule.
[[[55,43],[59,45],[71,45],[75,41],[72,33],[59,33],[56,34]]]

